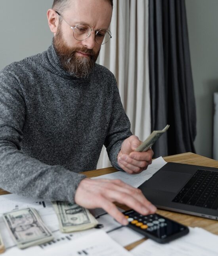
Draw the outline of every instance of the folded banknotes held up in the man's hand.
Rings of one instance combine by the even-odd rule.
[[[163,130],[153,131],[149,137],[136,149],[136,151],[142,152],[147,151],[157,141],[165,131],[168,130],[170,125],[166,125]]]

